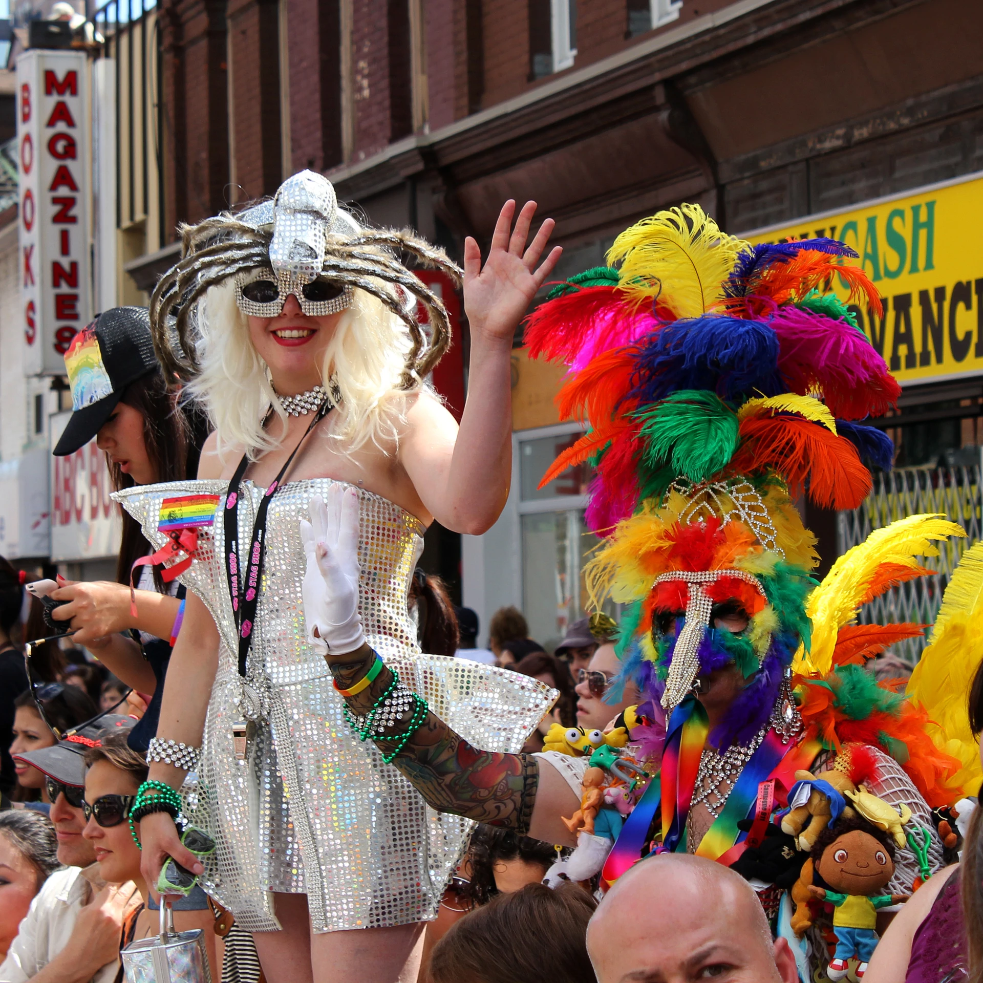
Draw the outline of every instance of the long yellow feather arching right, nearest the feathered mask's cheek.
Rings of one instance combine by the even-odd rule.
[[[867,586],[881,564],[914,566],[915,556],[939,555],[933,542],[965,535],[961,526],[939,513],[909,515],[883,529],[875,529],[863,543],[844,552],[809,595],[806,613],[812,619],[810,652],[799,646],[792,668],[802,674],[822,675],[833,668],[837,633],[856,616]]]

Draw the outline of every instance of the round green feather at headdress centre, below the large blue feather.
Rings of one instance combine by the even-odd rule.
[[[643,421],[642,460],[654,471],[669,464],[674,475],[701,482],[720,471],[737,449],[736,415],[706,389],[680,389],[632,416]]]

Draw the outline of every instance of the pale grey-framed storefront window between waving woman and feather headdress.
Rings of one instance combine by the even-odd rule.
[[[544,488],[540,481],[558,454],[583,433],[575,424],[516,434],[522,609],[533,638],[548,649],[590,609],[584,565],[600,542],[584,521],[593,475],[588,464],[568,468]],[[607,613],[616,616],[612,606]]]

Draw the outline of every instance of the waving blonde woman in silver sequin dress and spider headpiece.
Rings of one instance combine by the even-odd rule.
[[[177,544],[170,562],[192,557],[158,736],[202,748],[197,781],[183,788],[186,815],[218,842],[202,879],[254,933],[271,983],[415,979],[422,923],[434,917],[470,828],[430,809],[343,720],[301,603],[300,521],[311,499],[339,484],[357,490],[366,638],[444,719],[478,746],[517,751],[554,698],[528,677],[420,654],[406,601],[426,526],[436,519],[479,534],[508,492],[511,340],[558,258],[554,250],[540,263],[552,222],[527,249],[535,204],[513,230],[514,210],[502,208],[484,266],[477,244],[466,246],[472,354],[459,430],[425,384],[445,345],[442,305],[395,250],[454,267],[405,234],[360,229],[319,175],[295,175],[273,202],[187,232],[185,259],[151,300],[158,353],[202,398],[216,431],[200,481],[119,496],[155,547]],[[428,309],[429,343],[417,301]],[[323,418],[318,385],[334,404]],[[244,454],[245,477],[226,494]],[[249,622],[240,601],[249,592],[234,602],[229,583],[235,569],[246,577],[264,497],[242,676],[238,636]],[[226,526],[230,506],[236,518]],[[228,529],[237,544],[226,542]],[[243,717],[249,740],[238,760]],[[158,761],[150,777],[178,788],[186,773]],[[145,816],[141,830],[149,883],[165,854],[200,869],[167,813]]]

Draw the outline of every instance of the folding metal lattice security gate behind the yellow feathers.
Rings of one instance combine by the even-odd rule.
[[[983,454],[983,448],[980,448]],[[875,529],[896,519],[926,512],[943,512],[966,531],[965,539],[940,543],[939,556],[924,565],[938,570],[933,577],[919,577],[899,584],[860,611],[861,623],[914,621],[931,625],[939,613],[942,595],[963,551],[983,536],[981,485],[983,458],[975,464],[946,468],[896,468],[874,476],[874,488],[863,504],[837,516],[837,545],[840,555],[855,547]],[[921,658],[927,639],[909,638],[893,646],[896,656],[908,665]]]

